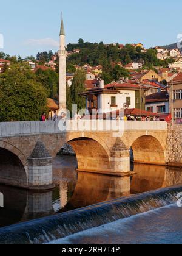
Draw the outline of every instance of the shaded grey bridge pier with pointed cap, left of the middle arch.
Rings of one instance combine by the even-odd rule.
[[[28,187],[32,190],[49,190],[54,188],[52,175],[52,157],[44,146],[38,141],[32,154],[27,159]]]

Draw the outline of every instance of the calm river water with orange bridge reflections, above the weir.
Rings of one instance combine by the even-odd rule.
[[[53,162],[53,191],[33,192],[0,185],[4,207],[0,207],[0,227],[67,212],[130,194],[143,193],[182,183],[180,169],[165,166],[131,166],[131,177],[76,172],[76,158],[56,157]]]

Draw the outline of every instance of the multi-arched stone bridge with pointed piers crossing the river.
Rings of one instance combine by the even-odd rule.
[[[91,121],[83,122],[87,123],[84,128],[63,132],[53,121],[0,123],[0,183],[33,190],[52,188],[52,158],[64,143],[73,147],[78,171],[126,176],[130,149],[134,162],[166,165],[166,122],[121,121],[122,130],[114,132],[86,129]],[[95,122],[98,126],[99,120]]]

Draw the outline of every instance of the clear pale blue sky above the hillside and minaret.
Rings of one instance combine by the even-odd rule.
[[[175,43],[182,33],[181,0],[0,0],[0,51],[22,57],[58,51],[61,11],[67,43],[83,38],[150,48]]]

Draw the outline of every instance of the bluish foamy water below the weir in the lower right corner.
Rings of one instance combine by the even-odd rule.
[[[51,244],[182,243],[182,208],[177,204],[76,233]]]

